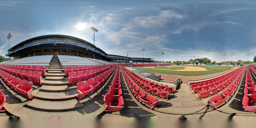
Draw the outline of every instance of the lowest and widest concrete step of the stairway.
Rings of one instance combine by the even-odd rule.
[[[26,104],[29,107],[40,110],[70,110],[83,107],[83,104],[76,99],[69,99],[63,101],[51,101],[33,98]]]

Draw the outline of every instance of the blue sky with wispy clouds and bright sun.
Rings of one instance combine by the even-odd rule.
[[[0,55],[44,34],[65,34],[106,53],[154,60],[252,60],[256,1],[245,0],[0,0]]]

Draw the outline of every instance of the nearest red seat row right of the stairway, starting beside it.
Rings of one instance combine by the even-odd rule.
[[[102,85],[112,74],[114,71],[114,68],[116,67],[109,66],[106,68],[106,70],[103,73],[100,73],[99,75],[96,75],[95,77],[89,78],[88,80],[83,80],[76,83],[77,87],[77,98],[81,99],[87,94],[92,93],[95,89],[99,88],[100,85]]]

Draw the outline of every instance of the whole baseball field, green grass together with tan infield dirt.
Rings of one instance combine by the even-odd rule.
[[[206,74],[213,74],[230,70],[238,66],[221,66],[221,65],[168,65],[168,66],[139,66],[133,67],[145,71],[172,74],[180,76],[199,76]]]

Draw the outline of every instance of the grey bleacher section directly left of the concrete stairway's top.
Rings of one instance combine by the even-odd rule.
[[[1,62],[8,65],[49,65],[53,55],[38,55]]]

